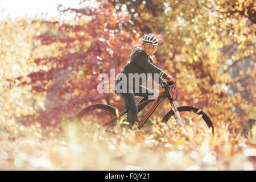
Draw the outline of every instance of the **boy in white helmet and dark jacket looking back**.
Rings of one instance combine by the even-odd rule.
[[[156,52],[157,46],[158,46],[158,38],[156,38],[154,35],[149,34],[145,35],[142,40],[142,48],[135,48],[131,52],[130,55],[130,62],[125,65],[125,67],[122,69],[121,73],[124,74],[127,78],[127,84],[126,90],[127,92],[122,92],[121,95],[123,97],[123,100],[125,101],[125,106],[127,109],[127,122],[130,123],[129,127],[131,128],[134,125],[135,119],[137,118],[138,114],[138,107],[135,102],[135,97],[134,96],[142,96],[142,100],[138,102],[141,103],[143,101],[148,100],[148,96],[154,96],[154,92],[150,89],[145,88],[144,86],[141,86],[141,82],[136,84],[134,80],[131,80],[129,75],[137,73],[139,74],[152,74],[152,78],[154,78],[154,73],[159,74],[159,79],[155,80],[158,82],[160,85],[163,83],[163,79],[166,79],[168,81],[173,81],[175,82],[174,78],[170,75],[167,75],[162,71],[162,69],[159,69],[158,67],[155,67],[153,64],[153,59],[151,55],[153,55]],[[161,78],[162,77],[162,78]],[[120,75],[117,77],[117,84],[120,82]],[[130,78],[130,80],[129,80]],[[134,78],[132,78],[134,79]],[[147,79],[147,78],[146,78]],[[133,81],[133,84],[129,84]],[[118,88],[118,86],[117,86]],[[118,90],[118,89],[117,89]],[[123,90],[123,88],[122,88]],[[139,92],[138,92],[139,91]],[[119,93],[119,91],[118,91]]]

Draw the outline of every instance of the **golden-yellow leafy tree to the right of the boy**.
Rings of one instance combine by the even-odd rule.
[[[162,55],[184,89],[180,99],[199,101],[213,121],[243,125],[255,103],[254,2],[162,2]]]

